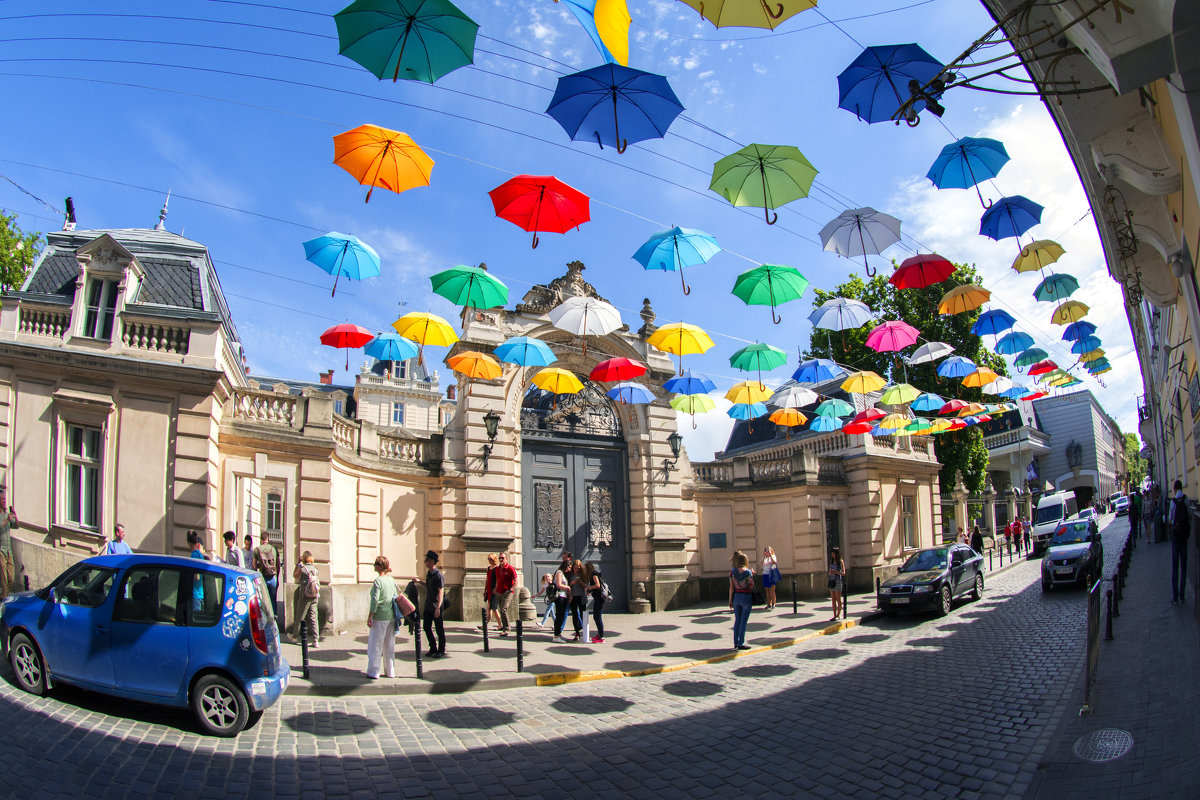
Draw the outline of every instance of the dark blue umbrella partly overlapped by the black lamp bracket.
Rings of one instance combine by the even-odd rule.
[[[908,82],[924,86],[942,68],[941,61],[917,44],[869,47],[838,76],[838,108],[868,124],[890,120],[912,97]],[[912,110],[924,107],[924,101],[918,101]]]

